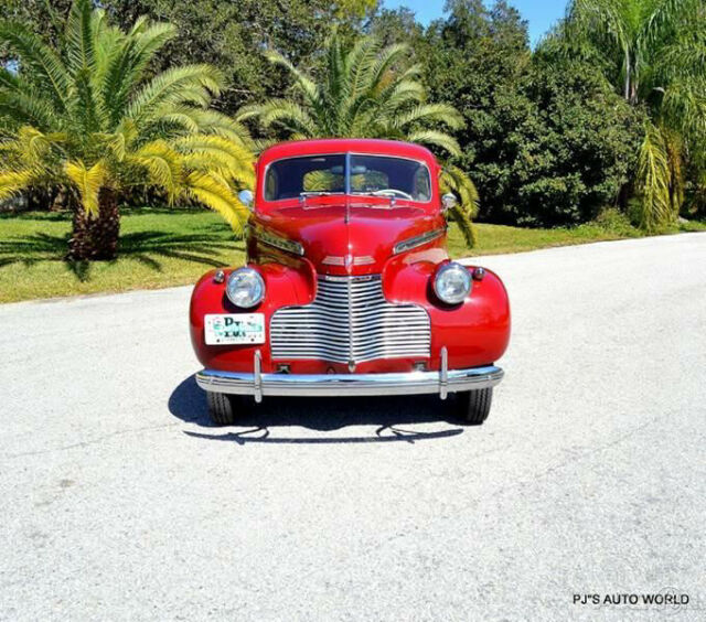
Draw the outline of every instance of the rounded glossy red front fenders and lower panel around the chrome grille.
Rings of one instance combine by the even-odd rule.
[[[441,348],[446,347],[450,369],[490,365],[507,347],[511,330],[510,302],[501,279],[486,270],[482,280],[473,280],[469,297],[456,305],[448,305],[434,293],[432,279],[440,265],[439,257],[409,261],[393,258],[383,270],[383,291],[393,303],[415,303],[422,307],[430,320],[431,356],[429,369],[439,369]],[[214,281],[215,270],[205,274],[194,287],[191,297],[191,340],[201,364],[210,369],[252,373],[257,350],[261,353],[264,372],[275,372],[270,356],[269,326],[275,311],[281,307],[304,305],[313,301],[317,274],[307,260],[287,266],[276,262],[250,264],[258,270],[267,289],[263,302],[254,309],[242,310],[225,294],[225,282]],[[473,267],[467,269],[473,270]],[[226,270],[227,275],[232,270]],[[207,313],[264,313],[265,344],[206,345],[204,315]],[[416,360],[376,360],[359,365],[359,372],[411,371]],[[323,361],[298,361],[292,373],[325,373],[327,369],[345,372],[345,365]]]

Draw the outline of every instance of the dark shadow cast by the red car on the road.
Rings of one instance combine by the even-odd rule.
[[[221,428],[211,422],[205,394],[194,376],[185,378],[169,398],[170,412],[188,422],[210,431],[184,433],[199,439],[245,443],[327,444],[407,442],[443,439],[463,433],[463,428],[443,427],[439,430],[414,430],[405,426],[417,423],[448,423],[452,405],[438,396],[409,397],[345,397],[345,398],[281,398],[268,397],[263,404],[253,401],[252,409],[238,419],[238,425]],[[368,436],[301,436],[280,437],[275,428],[298,426],[317,432],[335,432],[352,426],[375,426]]]

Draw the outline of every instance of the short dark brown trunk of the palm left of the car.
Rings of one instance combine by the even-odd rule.
[[[77,260],[115,259],[120,233],[120,213],[115,190],[101,187],[98,214],[88,214],[83,205],[74,208],[74,230],[68,240],[68,258]]]

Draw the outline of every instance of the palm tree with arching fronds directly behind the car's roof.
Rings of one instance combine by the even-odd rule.
[[[374,36],[359,39],[344,50],[334,33],[327,45],[322,79],[317,82],[279,52],[268,60],[293,78],[295,98],[270,99],[242,108],[236,119],[257,119],[264,129],[287,138],[388,138],[420,142],[451,156],[460,153],[456,139],[443,129],[463,125],[459,111],[447,104],[426,103],[421,67],[409,62],[404,44],[383,46]],[[469,245],[475,237],[470,218],[478,211],[478,192],[458,168],[445,167],[441,185],[460,199],[453,211]]]

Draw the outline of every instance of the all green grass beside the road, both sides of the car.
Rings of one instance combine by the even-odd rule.
[[[245,257],[244,244],[233,239],[221,217],[201,210],[125,210],[114,261],[65,261],[69,229],[68,214],[0,214],[0,302],[186,285],[211,268],[242,264]],[[479,246],[471,251],[451,225],[449,249],[453,257],[643,235],[614,213],[576,228],[479,224],[478,229]],[[678,230],[706,230],[706,224],[687,223],[666,233]]]

